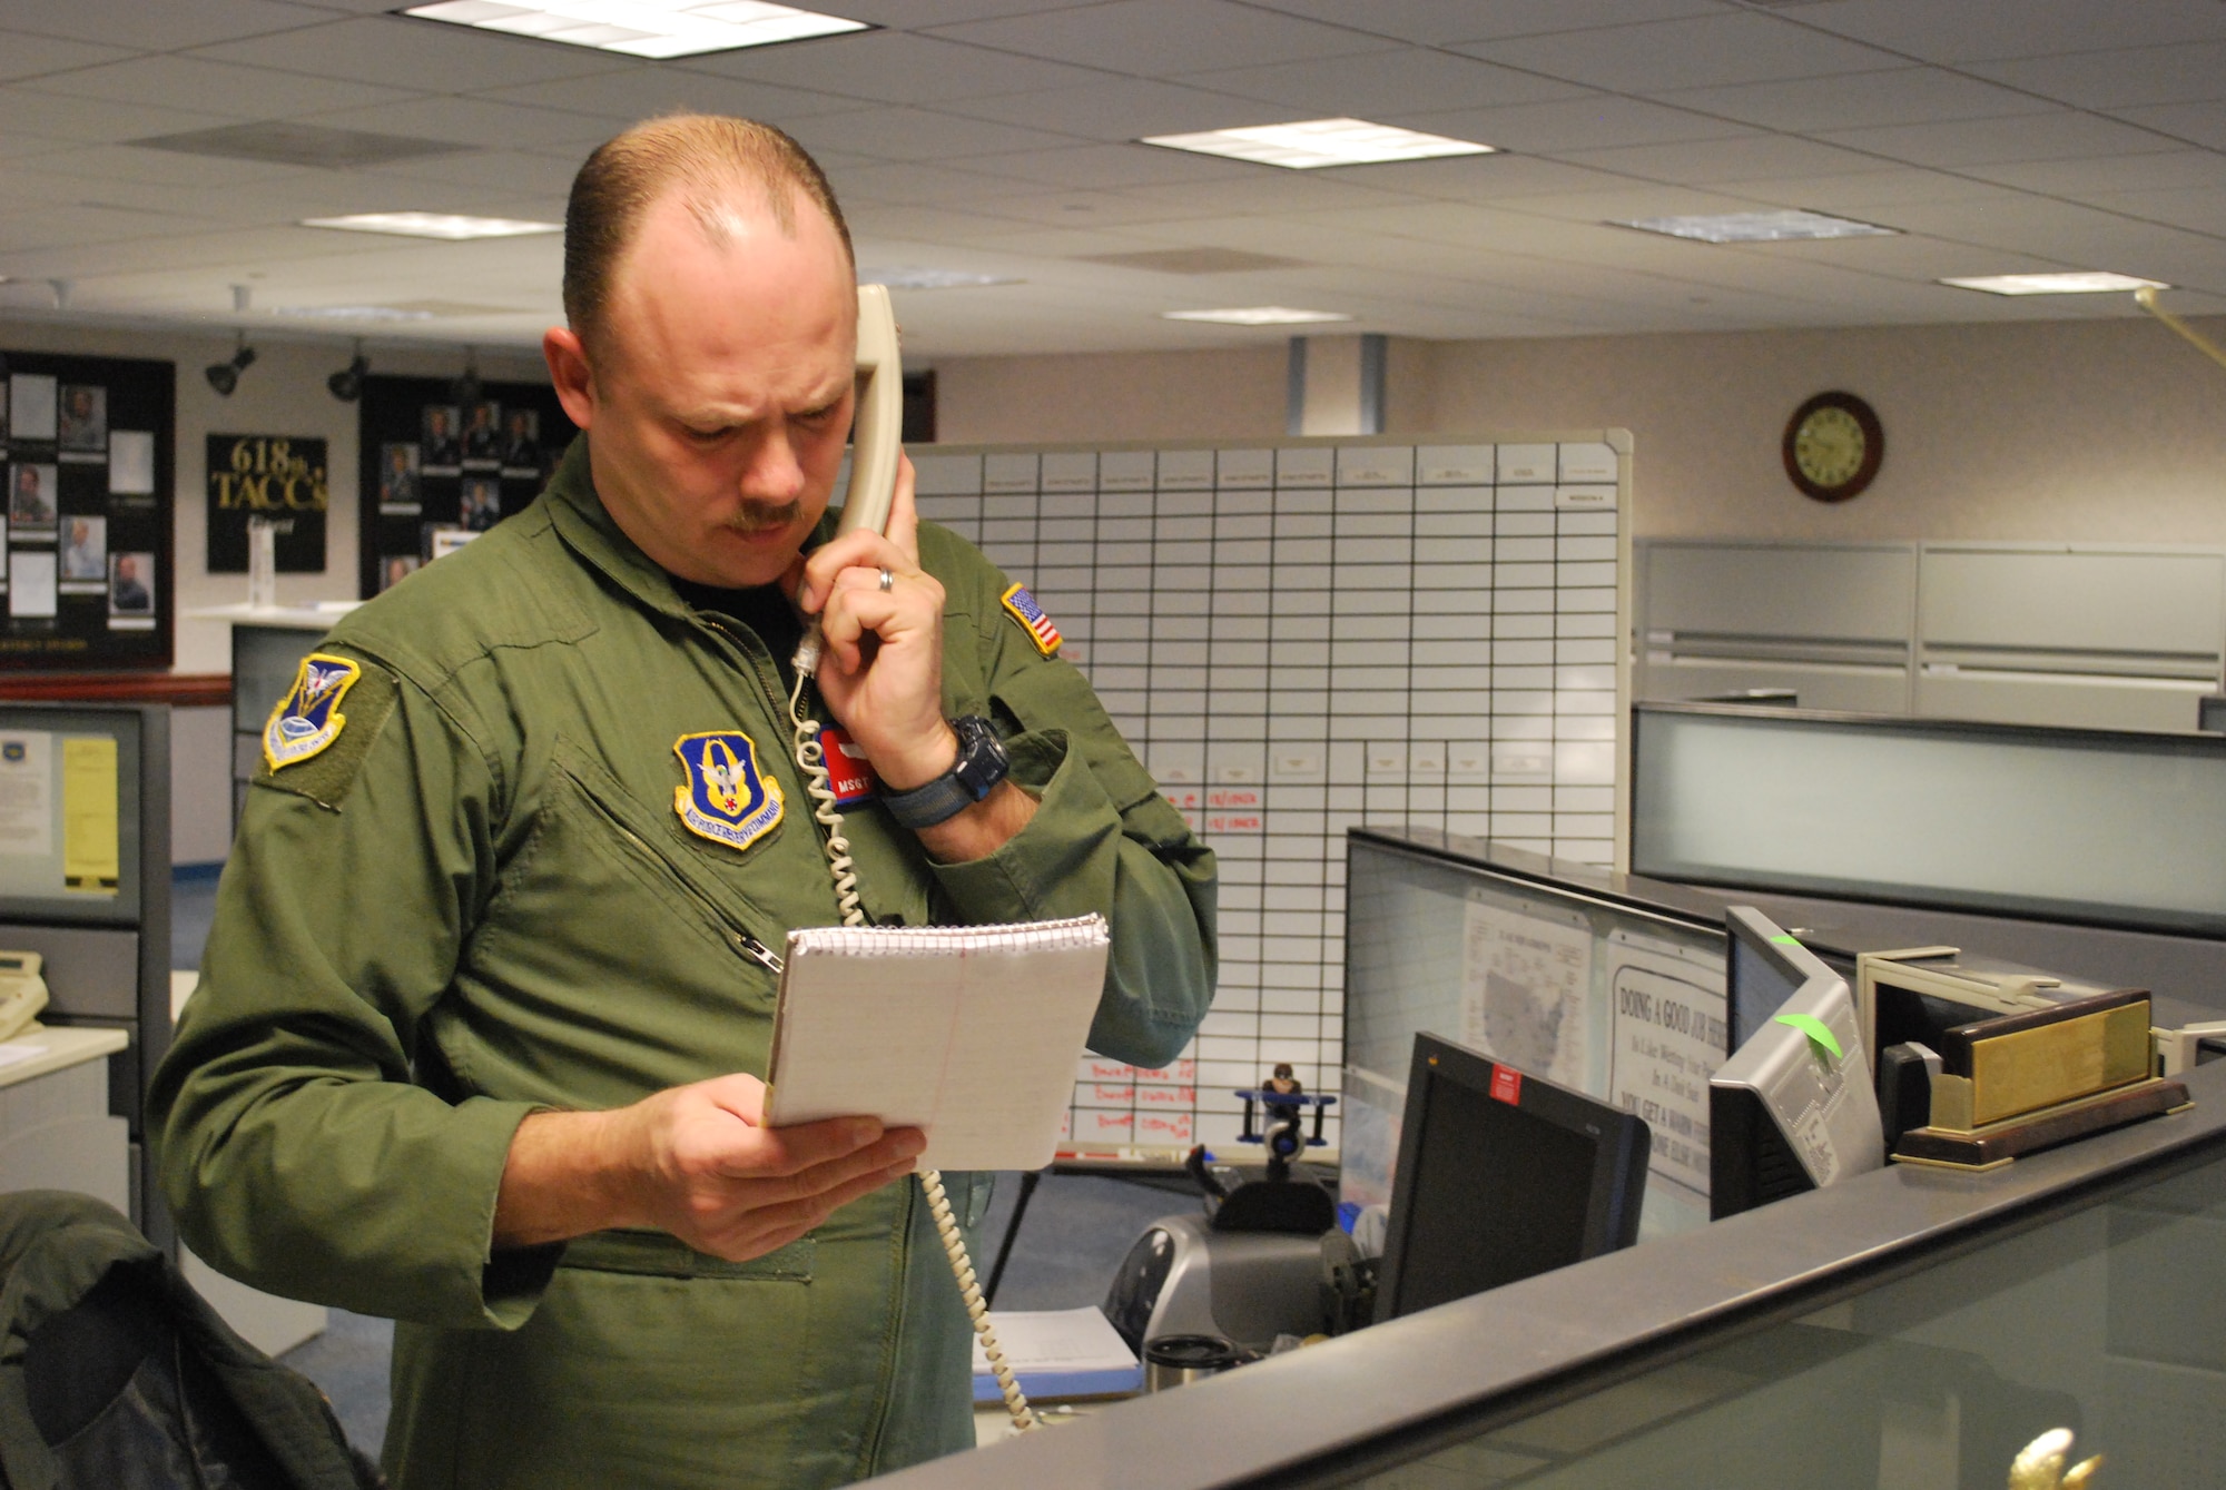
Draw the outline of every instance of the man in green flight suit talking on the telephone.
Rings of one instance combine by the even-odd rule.
[[[844,821],[875,921],[1104,912],[1120,1061],[1211,996],[1213,856],[1026,592],[917,523],[910,467],[886,536],[828,540],[853,280],[788,136],[603,145],[543,338],[581,438],[265,729],[154,1081],[165,1188],[218,1268],[401,1321],[403,1490],[835,1486],[971,1443],[922,1136],[759,1125],[770,950],[837,921],[786,749],[799,612],[879,776]],[[946,1183],[979,1221],[986,1176]]]

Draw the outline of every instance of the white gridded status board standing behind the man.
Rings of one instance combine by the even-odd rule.
[[[1614,861],[1629,451],[1621,429],[913,451],[919,514],[1028,585],[1220,856],[1213,1012],[1166,1070],[1084,1056],[1066,1152],[1231,1152],[1233,1092],[1278,1061],[1336,1092],[1347,827]]]

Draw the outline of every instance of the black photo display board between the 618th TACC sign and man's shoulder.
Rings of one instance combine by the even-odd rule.
[[[525,511],[574,434],[545,383],[481,383],[459,405],[447,378],[365,378],[361,598]]]

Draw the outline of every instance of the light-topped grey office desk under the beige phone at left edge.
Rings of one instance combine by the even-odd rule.
[[[62,1025],[0,1043],[0,1192],[76,1190],[131,1214],[131,1136],[109,1116],[107,1063],[129,1043],[122,1030]]]

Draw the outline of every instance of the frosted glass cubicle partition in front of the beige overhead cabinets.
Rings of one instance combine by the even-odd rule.
[[[2226,738],[1638,705],[1632,872],[2226,936]]]

